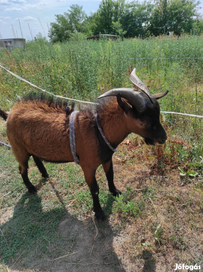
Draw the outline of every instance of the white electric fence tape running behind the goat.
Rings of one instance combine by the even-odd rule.
[[[93,102],[89,102],[89,101],[83,101],[83,100],[77,100],[77,99],[73,99],[73,98],[68,98],[68,97],[63,97],[61,95],[56,95],[56,94],[52,94],[51,92],[48,92],[46,90],[43,90],[42,88],[32,84],[31,82],[27,81],[26,79],[24,78],[21,78],[20,76],[14,74],[13,72],[7,70],[5,67],[3,67],[1,64],[0,64],[0,67],[5,69],[8,73],[10,73],[11,75],[15,76],[16,78],[19,78],[20,80],[23,80],[24,82],[30,84],[31,86],[35,87],[35,88],[38,88],[40,90],[42,90],[43,92],[47,92],[48,94],[51,94],[51,95],[54,95],[55,97],[59,97],[59,98],[64,98],[64,99],[68,99],[68,100],[74,100],[74,101],[77,101],[77,102],[82,102],[82,103],[89,103],[89,104],[96,104],[96,103],[93,103]],[[187,116],[192,116],[192,117],[199,117],[199,118],[203,118],[202,115],[196,115],[196,114],[189,114],[189,113],[180,113],[180,112],[163,112],[161,111],[161,113],[172,113],[172,114],[179,114],[179,115],[187,115]]]

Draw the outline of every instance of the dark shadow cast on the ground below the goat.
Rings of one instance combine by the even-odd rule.
[[[125,271],[114,252],[116,234],[108,218],[102,223],[95,221],[98,236],[94,240],[92,218],[79,220],[71,215],[54,191],[60,208],[54,208],[53,203],[53,208],[46,210],[46,200],[40,194],[25,193],[18,200],[13,217],[0,227],[4,234],[0,249],[3,263],[19,271]],[[109,194],[104,211],[107,207],[111,210],[112,204]]]

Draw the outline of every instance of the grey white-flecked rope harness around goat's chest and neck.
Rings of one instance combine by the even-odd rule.
[[[78,113],[78,112],[79,112],[78,110],[75,110],[75,111],[72,112],[71,115],[70,115],[70,124],[69,124],[69,126],[70,126],[70,128],[69,128],[70,131],[69,131],[69,138],[70,138],[70,148],[71,148],[71,152],[72,152],[72,154],[73,154],[74,162],[75,162],[76,164],[79,165],[79,164],[80,164],[80,160],[79,160],[79,158],[78,158],[77,155],[76,155],[76,135],[75,135],[75,122],[74,122],[74,115],[75,115],[76,113]],[[104,132],[103,132],[103,130],[102,130],[102,128],[101,128],[101,126],[99,125],[99,122],[98,122],[98,115],[97,115],[97,113],[95,114],[95,118],[96,118],[96,124],[97,124],[97,126],[98,126],[99,132],[101,133],[101,135],[102,135],[102,137],[103,137],[105,143],[107,144],[107,146],[108,146],[113,152],[117,152],[118,150],[115,149],[115,148],[113,148],[113,147],[111,146],[111,144],[109,143],[107,137],[104,135]]]

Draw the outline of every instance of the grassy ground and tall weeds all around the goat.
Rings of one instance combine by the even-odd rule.
[[[53,94],[87,101],[114,87],[132,87],[129,73],[136,67],[152,93],[169,90],[160,99],[161,110],[202,115],[203,38],[181,38],[86,41],[75,36],[53,44],[38,37],[25,50],[0,51],[0,59],[4,67]],[[3,69],[0,76],[4,110],[16,95],[36,91]],[[152,271],[155,264],[156,271],[169,271],[176,262],[199,264],[203,120],[163,114],[162,122],[169,138],[165,145],[146,146],[132,134],[118,147],[114,169],[120,197],[111,196],[98,168],[107,219],[95,222],[95,240],[92,200],[79,166],[45,163],[50,178],[44,181],[30,159],[29,177],[38,187],[31,196],[11,150],[0,146],[0,269],[7,271],[8,264],[20,271],[48,271],[53,265],[65,271],[70,263],[66,271],[75,265],[80,271],[86,263],[95,271],[103,264],[107,271],[124,271],[121,266],[127,271],[129,262],[131,271]],[[0,140],[8,143],[3,121]],[[49,261],[73,252],[80,253]]]

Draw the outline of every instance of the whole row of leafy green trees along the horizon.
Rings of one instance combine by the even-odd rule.
[[[203,20],[195,0],[133,1],[102,0],[96,12],[89,16],[80,5],[72,5],[64,14],[55,15],[49,30],[53,42],[70,40],[75,35],[89,37],[98,34],[124,38],[182,33],[201,35]]]

